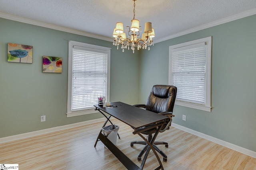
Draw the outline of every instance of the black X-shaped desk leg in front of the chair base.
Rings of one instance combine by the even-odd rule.
[[[160,127],[158,127],[156,133],[154,134],[154,136],[153,136],[153,138],[151,139],[150,142],[149,142],[144,136],[142,136],[142,134],[138,133],[138,135],[140,135],[140,137],[141,137],[141,138],[148,144],[148,146],[149,146],[148,149],[146,150],[145,156],[144,156],[144,158],[143,158],[143,160],[142,160],[142,163],[141,163],[141,166],[140,166],[140,170],[143,169],[143,167],[144,167],[144,165],[145,165],[145,163],[146,163],[146,159],[147,159],[147,157],[148,157],[148,154],[149,154],[150,149],[152,149],[152,151],[154,152],[154,154],[155,154],[155,156],[156,156],[156,158],[157,158],[157,160],[158,160],[158,163],[160,164],[160,166],[158,166],[155,170],[160,170],[160,169],[164,170],[164,167],[163,167],[163,165],[162,165],[162,162],[161,162],[161,160],[160,160],[160,158],[159,158],[159,156],[158,156],[156,150],[155,150],[154,147],[153,147],[154,141],[156,140],[156,136],[158,135],[158,133],[159,133],[161,127],[162,127],[162,125],[161,125]]]

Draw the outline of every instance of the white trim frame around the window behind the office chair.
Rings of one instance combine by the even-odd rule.
[[[199,109],[203,111],[211,111],[211,58],[212,58],[212,37],[206,37],[202,39],[197,39],[194,41],[188,41],[185,43],[180,43],[176,45],[169,46],[169,84],[172,84],[172,50],[180,47],[185,47],[188,45],[198,44],[198,43],[206,43],[206,89],[205,96],[206,102],[205,105],[194,104],[184,101],[175,101],[176,105],[190,107],[193,109]]]

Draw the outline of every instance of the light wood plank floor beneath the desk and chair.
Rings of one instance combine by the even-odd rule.
[[[142,145],[130,147],[130,141],[141,140],[132,128],[113,119],[120,126],[117,146],[140,166],[137,155]],[[80,126],[36,137],[0,144],[0,163],[19,164],[20,170],[125,170],[119,160],[99,141],[94,142],[102,123]],[[165,170],[256,170],[256,159],[222,147],[174,127],[160,133],[156,141],[168,161]],[[162,157],[160,157],[162,160]],[[150,151],[144,170],[152,170],[158,162]]]

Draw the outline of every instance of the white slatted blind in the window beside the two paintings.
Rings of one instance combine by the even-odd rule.
[[[94,107],[107,95],[107,54],[73,47],[72,111]]]

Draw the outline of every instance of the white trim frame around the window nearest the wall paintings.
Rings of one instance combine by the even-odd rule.
[[[98,113],[94,108],[86,109],[83,111],[71,111],[71,96],[72,96],[72,63],[73,63],[73,46],[86,47],[91,49],[103,50],[108,53],[108,71],[107,71],[107,101],[110,101],[110,48],[102,47],[98,45],[80,43],[76,41],[68,41],[68,103],[67,103],[67,117],[79,116],[79,115],[87,115],[92,113]]]

